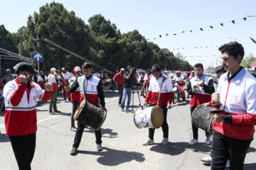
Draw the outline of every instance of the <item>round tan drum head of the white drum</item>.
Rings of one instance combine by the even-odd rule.
[[[164,113],[159,106],[154,106],[151,111],[151,122],[154,128],[160,128],[164,123]]]

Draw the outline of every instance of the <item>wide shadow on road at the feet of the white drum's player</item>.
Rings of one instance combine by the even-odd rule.
[[[161,154],[170,154],[172,156],[182,154],[186,149],[193,149],[193,152],[210,152],[210,146],[199,143],[195,146],[188,146],[188,142],[169,142],[166,146],[161,144],[154,145],[150,148],[151,151]]]

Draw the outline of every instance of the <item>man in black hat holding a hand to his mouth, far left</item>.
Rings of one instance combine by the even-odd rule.
[[[31,162],[36,148],[36,103],[37,98],[48,101],[52,85],[46,83],[45,90],[31,81],[35,70],[26,62],[18,63],[14,69],[18,77],[4,86],[4,113],[6,135],[19,169],[31,169]]]

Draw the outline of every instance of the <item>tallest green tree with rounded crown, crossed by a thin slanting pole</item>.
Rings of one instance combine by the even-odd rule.
[[[28,16],[27,23],[23,30],[24,40],[18,44],[19,52],[28,56],[32,56],[33,52],[43,53],[43,69],[73,69],[83,61],[43,40],[36,40],[35,33],[79,55],[87,56],[90,60],[90,29],[81,18],[75,16],[75,12],[68,12],[62,4],[52,2],[41,6],[39,13],[34,13],[33,17]]]

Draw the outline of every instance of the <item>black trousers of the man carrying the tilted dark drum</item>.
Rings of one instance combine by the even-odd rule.
[[[78,122],[78,129],[75,132],[75,140],[74,140],[74,145],[73,147],[78,148],[82,139],[82,132],[85,129],[85,125],[82,123]],[[102,144],[102,133],[101,129],[100,130],[95,130],[95,137],[96,137],[96,144]]]

